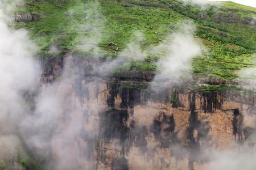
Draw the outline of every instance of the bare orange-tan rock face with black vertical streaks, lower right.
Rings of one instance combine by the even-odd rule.
[[[112,114],[121,115],[119,121],[115,120],[120,126],[102,128],[102,136],[108,140],[102,141],[102,150],[106,152],[100,155],[112,159],[100,160],[100,165],[105,166],[98,169],[113,169],[115,157],[126,159],[130,169],[206,169],[209,158],[201,156],[201,148],[230,148],[246,142],[246,129],[255,133],[254,107],[251,108],[254,103],[250,96],[242,101],[243,96],[234,94],[186,91],[177,97],[181,107],[174,107],[166,100],[171,96],[151,99],[140,93],[124,89],[112,97],[114,103],[109,107],[115,109]],[[115,129],[110,136],[109,129]]]

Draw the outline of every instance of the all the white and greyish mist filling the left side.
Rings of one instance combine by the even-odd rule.
[[[36,45],[28,40],[27,31],[7,25],[11,19],[5,12],[11,16],[15,6],[2,11],[6,4],[1,1],[0,7],[0,147],[5,151],[1,158],[5,163],[15,158],[13,166],[22,168],[15,148],[25,147],[48,168],[93,169],[93,140],[102,104],[82,90],[97,80],[86,82],[84,70],[74,63],[76,56],[67,55],[61,78],[42,84]],[[93,45],[91,41],[86,42]],[[85,51],[92,49],[94,45],[84,46]]]

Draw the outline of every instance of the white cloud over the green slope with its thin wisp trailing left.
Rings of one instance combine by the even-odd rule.
[[[151,45],[142,48],[146,42],[143,33],[134,31],[131,41],[126,48],[119,53],[118,57],[103,63],[100,72],[111,73],[120,66],[131,61],[143,61],[147,56],[157,56],[159,61],[155,63],[159,67],[159,72],[152,82],[168,80],[177,82],[180,76],[189,73],[191,70],[191,60],[201,53],[202,46],[193,38],[196,27],[193,23],[179,23],[175,25],[175,31],[167,35],[166,39],[158,45]]]

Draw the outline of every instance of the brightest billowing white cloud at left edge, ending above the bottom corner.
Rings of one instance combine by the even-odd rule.
[[[5,118],[19,119],[19,114],[26,111],[22,94],[38,86],[40,65],[32,58],[36,46],[28,40],[27,32],[10,30],[2,10],[0,14],[0,110],[5,122]]]

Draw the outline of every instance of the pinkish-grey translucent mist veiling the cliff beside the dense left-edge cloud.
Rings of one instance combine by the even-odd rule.
[[[22,121],[19,129],[27,146],[55,169],[92,169],[94,137],[98,129],[97,98],[83,91],[89,83],[73,62],[65,60],[60,80],[45,84],[36,97],[35,112]],[[87,97],[86,97],[87,96]],[[30,129],[32,133],[27,134]],[[89,146],[88,146],[89,145]]]

